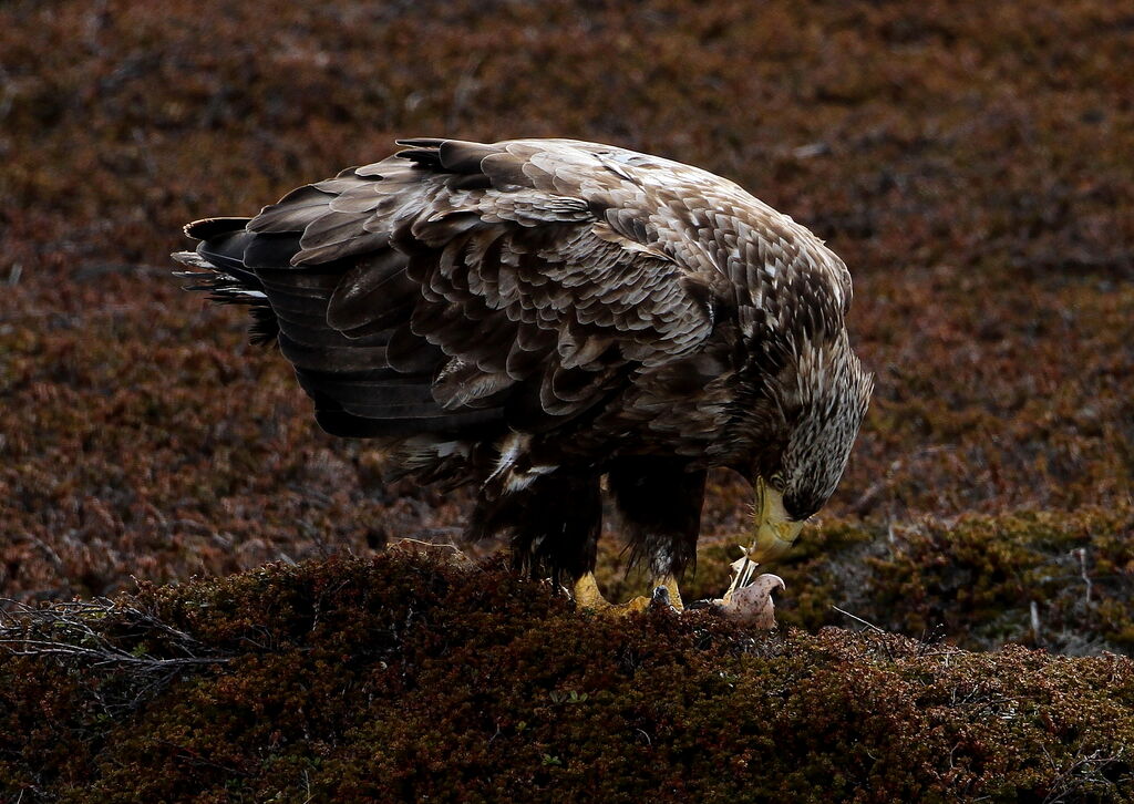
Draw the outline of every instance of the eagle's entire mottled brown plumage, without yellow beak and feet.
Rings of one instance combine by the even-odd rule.
[[[693,559],[708,467],[767,481],[780,519],[826,502],[870,376],[822,242],[618,147],[400,144],[255,218],[192,223],[177,255],[253,306],[325,430],[475,483],[472,534],[510,532],[522,565],[570,578],[593,567],[603,474],[659,577]]]

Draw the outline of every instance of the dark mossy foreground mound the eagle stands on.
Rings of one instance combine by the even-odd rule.
[[[53,612],[6,636],[71,650],[0,659],[0,784],[24,802],[1134,795],[1116,655],[608,619],[397,551]]]

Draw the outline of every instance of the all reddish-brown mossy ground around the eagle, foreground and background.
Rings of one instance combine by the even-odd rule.
[[[1134,795],[1132,41],[1102,0],[0,3],[0,596],[139,595],[60,610],[134,665],[0,659],[0,798]],[[846,260],[878,390],[781,635],[389,557],[467,497],[384,484],[169,277],[184,222],[407,135],[692,162]],[[687,598],[750,502],[712,476]]]

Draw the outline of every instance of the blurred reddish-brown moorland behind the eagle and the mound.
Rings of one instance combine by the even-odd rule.
[[[878,391],[789,585],[844,600],[972,526],[1034,573],[954,556],[939,574],[967,560],[962,593],[981,567],[1024,608],[1033,581],[1091,577],[1083,616],[1109,594],[1128,623],[1132,45],[1134,9],[1092,0],[9,0],[0,595],[450,541],[464,497],[386,485],[381,455],[319,432],[284,361],[180,290],[168,254],[185,222],[254,213],[396,136],[560,136],[733,178],[850,266]],[[714,475],[705,591],[748,500]],[[844,542],[855,564],[819,573]]]

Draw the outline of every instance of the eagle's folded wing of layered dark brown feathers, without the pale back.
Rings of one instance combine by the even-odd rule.
[[[650,247],[655,227],[633,211],[613,217],[629,237],[611,236],[604,210],[613,200],[587,196],[584,166],[526,143],[413,145],[295,191],[248,226],[264,237],[298,235],[291,268],[265,270],[272,299],[287,311],[296,299],[321,302],[327,328],[290,320],[303,310],[285,312],[286,354],[350,415],[400,415],[407,404],[392,392],[388,409],[363,404],[384,392],[381,378],[353,379],[371,364],[428,376],[441,415],[502,409],[509,395],[534,396],[549,416],[578,415],[708,337],[711,311],[687,293],[689,271]],[[481,180],[460,179],[469,176]],[[592,184],[623,181],[610,174]],[[330,262],[348,265],[331,287],[301,279],[299,269]],[[330,370],[316,375],[320,357]],[[337,371],[344,376],[331,379]]]

